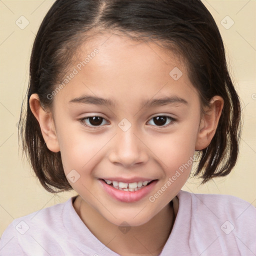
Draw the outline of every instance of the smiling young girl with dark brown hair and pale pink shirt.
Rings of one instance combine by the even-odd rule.
[[[182,191],[233,168],[240,103],[199,0],[57,0],[36,35],[23,149],[64,203],[15,219],[0,255],[256,255],[256,209]]]

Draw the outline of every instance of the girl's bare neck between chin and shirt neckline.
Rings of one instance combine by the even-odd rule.
[[[177,213],[178,201],[177,197],[174,197],[172,202],[164,206],[147,223],[124,227],[121,230],[102,217],[79,195],[73,206],[94,236],[112,251],[123,256],[152,256],[159,255],[169,237]]]

